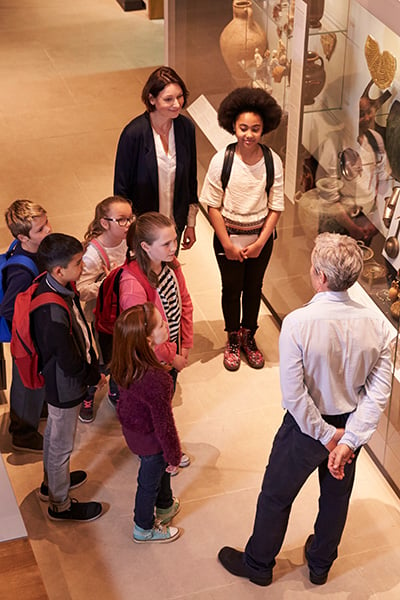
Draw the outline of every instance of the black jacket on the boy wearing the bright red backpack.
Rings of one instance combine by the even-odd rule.
[[[35,296],[49,291],[57,292],[69,305],[72,331],[66,309],[58,304],[45,304],[31,315],[32,337],[43,369],[47,402],[58,408],[71,408],[87,397],[87,386],[98,383],[100,372],[91,344],[91,363],[87,361],[85,338],[75,316],[74,305],[82,317],[90,342],[91,336],[78,295],[47,274]]]

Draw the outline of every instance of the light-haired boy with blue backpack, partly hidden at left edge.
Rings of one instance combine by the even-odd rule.
[[[1,270],[4,296],[0,305],[5,332],[11,333],[17,294],[25,291],[38,275],[37,250],[51,232],[46,211],[30,200],[15,200],[5,213],[7,227],[15,238]],[[8,338],[9,339],[9,338]],[[5,338],[1,341],[7,341]],[[44,389],[26,388],[13,361],[10,388],[10,426],[14,450],[41,453],[43,437],[38,431],[45,401]]]

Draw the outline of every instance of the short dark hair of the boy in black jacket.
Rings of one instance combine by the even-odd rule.
[[[80,252],[83,252],[83,246],[72,235],[50,233],[40,242],[37,260],[41,269],[51,272],[54,267],[66,269]]]

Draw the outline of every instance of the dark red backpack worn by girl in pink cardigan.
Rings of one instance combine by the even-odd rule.
[[[101,282],[99,293],[94,309],[94,326],[96,331],[101,333],[113,334],[114,323],[121,312],[119,305],[119,282],[124,269],[132,271],[146,290],[147,298],[150,302],[154,302],[156,297],[156,289],[153,288],[143,271],[140,269],[136,261],[125,263],[122,267],[116,267],[107,275]]]

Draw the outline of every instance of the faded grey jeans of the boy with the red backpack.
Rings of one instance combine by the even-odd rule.
[[[44,482],[49,487],[49,506],[58,512],[67,510],[71,504],[69,459],[80,408],[80,404],[73,408],[48,405],[43,444]]]

